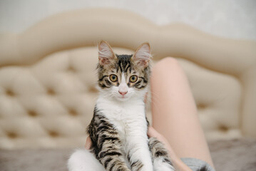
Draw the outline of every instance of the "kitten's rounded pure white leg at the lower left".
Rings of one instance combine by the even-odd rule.
[[[78,149],[68,159],[68,171],[104,171],[103,165],[86,149]]]

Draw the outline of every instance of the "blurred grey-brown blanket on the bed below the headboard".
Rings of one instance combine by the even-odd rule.
[[[209,142],[217,171],[256,171],[256,140]],[[66,171],[73,150],[0,150],[1,171]]]

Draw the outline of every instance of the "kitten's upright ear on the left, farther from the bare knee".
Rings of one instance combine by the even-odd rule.
[[[101,41],[98,44],[98,63],[101,66],[109,66],[116,60],[116,55],[113,53],[111,46],[106,41]]]

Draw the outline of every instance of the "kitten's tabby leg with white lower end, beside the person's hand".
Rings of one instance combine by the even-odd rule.
[[[162,142],[156,138],[150,138],[148,142],[153,160],[154,171],[174,171],[168,151],[165,149]]]

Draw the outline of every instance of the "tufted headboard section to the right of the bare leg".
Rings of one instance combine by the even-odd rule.
[[[240,137],[240,81],[184,59],[179,62],[188,76],[206,138]]]

